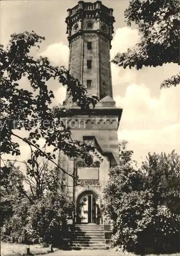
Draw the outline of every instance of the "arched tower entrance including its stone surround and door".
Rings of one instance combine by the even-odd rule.
[[[101,218],[99,197],[92,191],[84,191],[77,198],[76,223],[97,223]]]

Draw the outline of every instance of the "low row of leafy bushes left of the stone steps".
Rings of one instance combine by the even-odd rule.
[[[31,205],[21,201],[14,214],[2,227],[2,240],[16,243],[41,242],[63,246],[68,230],[66,219],[72,218],[73,205],[64,195],[48,193],[41,201]]]

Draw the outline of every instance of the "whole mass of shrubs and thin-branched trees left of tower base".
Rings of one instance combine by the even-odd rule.
[[[61,190],[58,170],[50,161],[24,161],[25,170],[8,161],[2,173],[2,239],[16,243],[53,243],[64,245],[68,231],[66,220],[72,219],[74,205]],[[3,204],[2,204],[3,203]],[[7,212],[8,211],[8,212]]]

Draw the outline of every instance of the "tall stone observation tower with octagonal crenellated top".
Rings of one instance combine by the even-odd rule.
[[[109,2],[110,3],[110,2]],[[75,177],[61,175],[69,196],[76,205],[75,223],[103,224],[101,212],[102,191],[108,181],[108,170],[119,160],[117,129],[122,109],[116,108],[110,70],[110,48],[115,18],[113,9],[100,1],[83,1],[68,9],[67,33],[70,47],[69,70],[87,88],[88,94],[97,94],[96,107],[81,110],[71,98],[64,106],[71,109],[72,138],[93,141],[96,150],[83,159],[68,158],[60,153],[59,163]]]

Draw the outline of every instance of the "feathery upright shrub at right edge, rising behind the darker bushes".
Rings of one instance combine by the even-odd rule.
[[[179,214],[180,156],[175,151],[168,155],[148,154],[141,168],[147,174],[146,186],[153,193],[154,205],[167,205]]]

